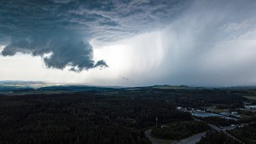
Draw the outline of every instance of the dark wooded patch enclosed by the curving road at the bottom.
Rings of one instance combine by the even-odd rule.
[[[151,135],[160,139],[181,140],[207,130],[209,126],[205,122],[184,121],[154,128]]]

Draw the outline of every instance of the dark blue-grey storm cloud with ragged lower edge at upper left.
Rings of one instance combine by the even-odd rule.
[[[109,42],[152,31],[191,3],[177,0],[2,0],[4,56],[41,56],[48,67],[83,71],[108,66],[93,59],[90,39]],[[50,54],[45,57],[44,55]],[[108,61],[107,61],[108,62]]]

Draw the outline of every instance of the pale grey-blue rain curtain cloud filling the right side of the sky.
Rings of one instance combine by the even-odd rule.
[[[161,31],[165,54],[142,83],[255,84],[255,7],[252,0],[194,1]]]

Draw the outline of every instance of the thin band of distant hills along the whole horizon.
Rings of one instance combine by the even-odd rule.
[[[0,94],[34,94],[34,93],[61,93],[81,91],[113,91],[113,90],[137,90],[137,89],[256,89],[256,86],[233,86],[233,87],[190,87],[186,85],[154,85],[148,87],[110,87],[90,86],[83,84],[51,84],[39,81],[0,81]]]

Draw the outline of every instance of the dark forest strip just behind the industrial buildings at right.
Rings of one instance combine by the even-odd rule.
[[[246,100],[242,93],[229,89],[154,89],[154,92],[172,97],[180,107],[241,108]]]

